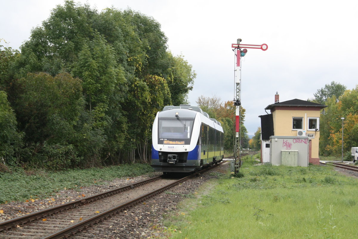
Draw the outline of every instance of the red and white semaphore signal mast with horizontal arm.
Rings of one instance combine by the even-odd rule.
[[[240,113],[241,113],[241,57],[245,56],[247,53],[246,48],[251,49],[261,49],[262,51],[267,50],[267,44],[262,45],[250,45],[250,44],[241,44],[241,39],[237,39],[237,44],[231,45],[233,51],[236,56],[236,70],[235,70],[235,132],[236,132],[236,140],[235,140],[235,151],[234,151],[234,173],[236,174],[240,166],[242,164],[241,161],[241,135],[240,135]],[[243,49],[242,49],[243,48]]]

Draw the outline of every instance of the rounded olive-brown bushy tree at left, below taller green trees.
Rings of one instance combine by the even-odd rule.
[[[15,86],[18,97],[14,109],[31,155],[42,153],[48,145],[67,147],[74,143],[74,126],[83,110],[82,87],[78,78],[68,73],[55,77],[46,73],[29,73]],[[72,146],[68,149],[75,155]],[[68,162],[67,166],[70,164]]]

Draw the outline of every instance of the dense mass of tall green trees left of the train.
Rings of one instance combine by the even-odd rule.
[[[0,159],[49,169],[147,162],[156,112],[184,103],[195,78],[166,43],[157,21],[130,9],[58,5],[21,52],[0,46]]]

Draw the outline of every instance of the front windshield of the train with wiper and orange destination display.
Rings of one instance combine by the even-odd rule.
[[[159,119],[158,144],[190,144],[194,119]]]

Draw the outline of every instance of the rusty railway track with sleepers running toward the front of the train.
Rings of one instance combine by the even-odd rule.
[[[200,173],[208,169],[204,169]],[[0,223],[0,238],[67,238],[193,176],[180,179],[153,177],[4,221]]]

